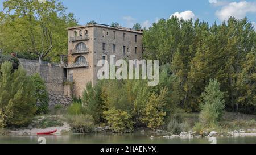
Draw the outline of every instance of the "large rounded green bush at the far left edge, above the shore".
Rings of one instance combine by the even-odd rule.
[[[31,79],[22,68],[12,73],[12,64],[4,62],[0,70],[0,128],[23,126],[36,112]]]

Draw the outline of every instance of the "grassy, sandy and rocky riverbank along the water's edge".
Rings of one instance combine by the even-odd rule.
[[[197,120],[197,114],[186,114],[185,119],[193,123]],[[256,137],[256,122],[255,115],[245,115],[226,112],[220,127],[215,129],[205,129],[201,133],[193,131],[181,132],[179,135],[172,134],[170,131],[157,130],[151,131],[150,129],[135,129],[135,132],[145,134],[148,138],[154,139],[155,137],[163,137],[164,139],[192,139],[201,137]],[[63,133],[71,133],[71,127],[67,122],[67,119],[63,115],[46,115],[38,116],[35,120],[28,125],[27,128],[18,129],[5,129],[0,131],[0,135],[11,136],[33,136],[38,132],[47,132],[57,129],[55,135],[62,135]],[[109,127],[96,127],[94,130],[96,133],[106,134],[109,131]]]

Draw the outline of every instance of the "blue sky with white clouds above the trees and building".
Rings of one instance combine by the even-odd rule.
[[[0,9],[2,2],[0,0]],[[62,0],[68,12],[73,12],[80,24],[96,20],[102,24],[118,22],[122,26],[131,27],[140,23],[149,27],[160,18],[200,18],[210,24],[227,19],[230,15],[237,18],[247,16],[256,22],[256,0]],[[101,17],[101,18],[100,18]],[[100,20],[101,19],[101,20]]]

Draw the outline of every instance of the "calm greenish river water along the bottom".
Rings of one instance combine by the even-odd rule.
[[[143,133],[125,135],[0,136],[0,144],[256,144],[256,137],[164,139],[163,136],[155,135],[154,139],[150,139],[150,136]]]

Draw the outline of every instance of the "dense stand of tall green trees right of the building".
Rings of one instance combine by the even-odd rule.
[[[255,113],[256,32],[247,18],[221,24],[160,19],[144,31],[144,57],[171,64],[179,78],[181,105],[199,111],[209,79],[220,82],[226,109]]]

